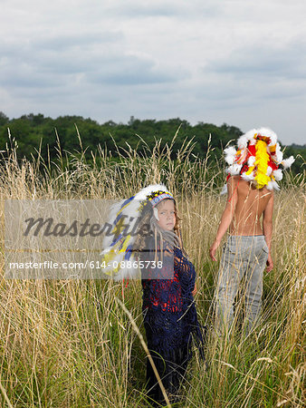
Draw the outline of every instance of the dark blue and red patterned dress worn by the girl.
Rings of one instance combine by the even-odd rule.
[[[196,281],[195,267],[180,248],[171,250],[169,247],[163,252],[162,269],[142,269],[142,311],[148,349],[158,374],[167,393],[176,395],[192,356],[192,337],[203,358],[204,354],[202,327],[197,321],[192,295]],[[155,251],[150,252],[146,259],[152,259],[153,253]],[[164,403],[148,360],[147,383],[148,395],[154,401]]]

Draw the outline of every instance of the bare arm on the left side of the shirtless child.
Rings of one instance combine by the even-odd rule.
[[[238,193],[237,193],[237,180],[234,177],[230,177],[227,181],[227,202],[225,210],[222,214],[219,228],[216,231],[216,237],[213,245],[209,249],[209,256],[215,261],[215,252],[219,248],[222,238],[227,231],[227,228],[231,225],[234,217],[234,209],[237,204]]]

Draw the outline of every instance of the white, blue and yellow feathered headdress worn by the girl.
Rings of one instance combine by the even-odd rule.
[[[137,238],[135,229],[145,207],[149,204],[158,219],[155,208],[163,199],[174,199],[173,195],[163,184],[154,184],[141,189],[135,196],[123,199],[110,210],[111,232],[103,239],[102,263],[103,273],[115,280],[127,277],[137,277],[139,274],[138,262],[133,247]],[[125,222],[124,222],[125,220]],[[122,230],[122,221],[129,227]],[[129,262],[128,262],[129,261]],[[133,267],[133,263],[136,267]]]

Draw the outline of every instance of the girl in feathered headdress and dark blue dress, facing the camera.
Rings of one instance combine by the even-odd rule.
[[[102,254],[109,266],[104,272],[120,279],[135,277],[136,269],[141,268],[148,349],[168,396],[175,402],[192,356],[192,335],[204,358],[193,297],[196,271],[183,248],[176,201],[164,185],[148,186],[117,204],[110,219],[113,235],[103,240],[107,249]],[[124,225],[124,219],[129,225]],[[131,231],[136,227],[138,233],[134,234]],[[149,360],[147,386],[153,404],[164,404]]]

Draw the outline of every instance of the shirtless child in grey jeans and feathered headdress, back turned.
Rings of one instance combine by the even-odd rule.
[[[230,164],[227,179],[227,202],[215,242],[209,250],[215,261],[229,228],[220,263],[216,301],[216,329],[220,335],[232,325],[234,298],[245,277],[245,332],[253,328],[261,309],[263,270],[273,269],[271,241],[273,233],[273,189],[279,189],[275,180],[282,180],[282,170],[292,164],[293,158],[282,160],[282,151],[276,134],[268,129],[248,131],[233,147],[225,150]],[[261,219],[263,218],[263,223]]]

